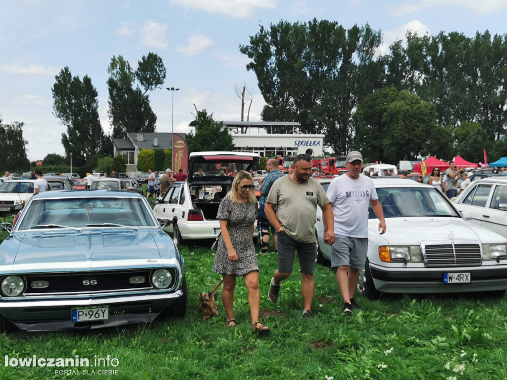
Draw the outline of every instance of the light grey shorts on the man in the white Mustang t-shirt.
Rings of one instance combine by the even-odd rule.
[[[331,267],[350,265],[352,268],[364,269],[367,253],[368,238],[337,235],[331,250]]]

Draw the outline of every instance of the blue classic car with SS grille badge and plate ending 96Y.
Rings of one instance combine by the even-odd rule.
[[[90,329],[184,317],[184,258],[127,191],[33,196],[0,245],[0,331]]]

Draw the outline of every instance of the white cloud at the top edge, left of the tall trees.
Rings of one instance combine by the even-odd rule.
[[[277,0],[171,0],[173,4],[208,13],[224,13],[234,18],[251,16],[255,8],[274,9]]]

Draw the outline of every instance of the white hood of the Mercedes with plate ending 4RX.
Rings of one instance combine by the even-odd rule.
[[[385,244],[418,245],[425,244],[456,244],[475,242],[476,244],[505,243],[502,236],[484,227],[470,223],[457,217],[404,217],[386,218],[385,234],[378,233],[378,219],[369,220],[369,237],[379,235]]]

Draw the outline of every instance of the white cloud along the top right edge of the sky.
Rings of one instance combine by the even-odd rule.
[[[393,16],[404,16],[426,8],[443,6],[463,7],[476,13],[499,12],[507,7],[507,0],[420,0],[419,4],[405,4],[391,10]]]

